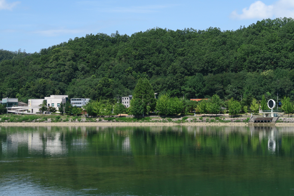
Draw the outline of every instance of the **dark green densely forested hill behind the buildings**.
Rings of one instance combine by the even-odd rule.
[[[0,50],[0,96],[114,98],[146,77],[155,92],[189,99],[293,97],[293,39],[294,20],[277,18],[234,31],[154,28],[87,34],[34,54]]]

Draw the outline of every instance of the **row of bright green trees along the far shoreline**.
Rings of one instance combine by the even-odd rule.
[[[277,103],[278,104],[278,103]],[[192,112],[198,114],[217,115],[219,113],[229,113],[232,117],[240,113],[258,113],[261,110],[270,110],[267,105],[265,95],[261,100],[251,99],[249,105],[245,101],[238,101],[234,98],[223,100],[217,94],[214,94],[209,99],[202,99],[200,102],[193,100],[179,99],[171,97],[170,91],[166,94],[159,95],[156,100],[154,90],[150,82],[146,78],[140,78],[135,86],[133,99],[130,100],[130,107],[126,108],[120,101],[111,102],[110,99],[92,100],[83,108],[88,115],[118,115],[128,113],[135,116],[149,115],[150,112],[155,112],[158,115],[193,115]],[[294,105],[289,97],[284,96],[281,99],[280,110],[285,113],[293,113]]]

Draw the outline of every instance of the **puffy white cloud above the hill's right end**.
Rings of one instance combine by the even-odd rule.
[[[235,10],[231,13],[232,18],[238,19],[264,19],[271,17],[294,17],[294,1],[279,0],[272,5],[266,5],[262,1],[255,1],[249,8],[242,9],[238,14]]]

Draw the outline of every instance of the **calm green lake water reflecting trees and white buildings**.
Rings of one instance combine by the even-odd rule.
[[[294,128],[0,126],[0,195],[293,195]]]

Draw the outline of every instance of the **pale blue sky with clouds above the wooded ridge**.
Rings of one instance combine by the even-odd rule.
[[[236,30],[264,18],[294,18],[294,0],[0,0],[0,49],[39,52],[86,34],[150,28]]]

